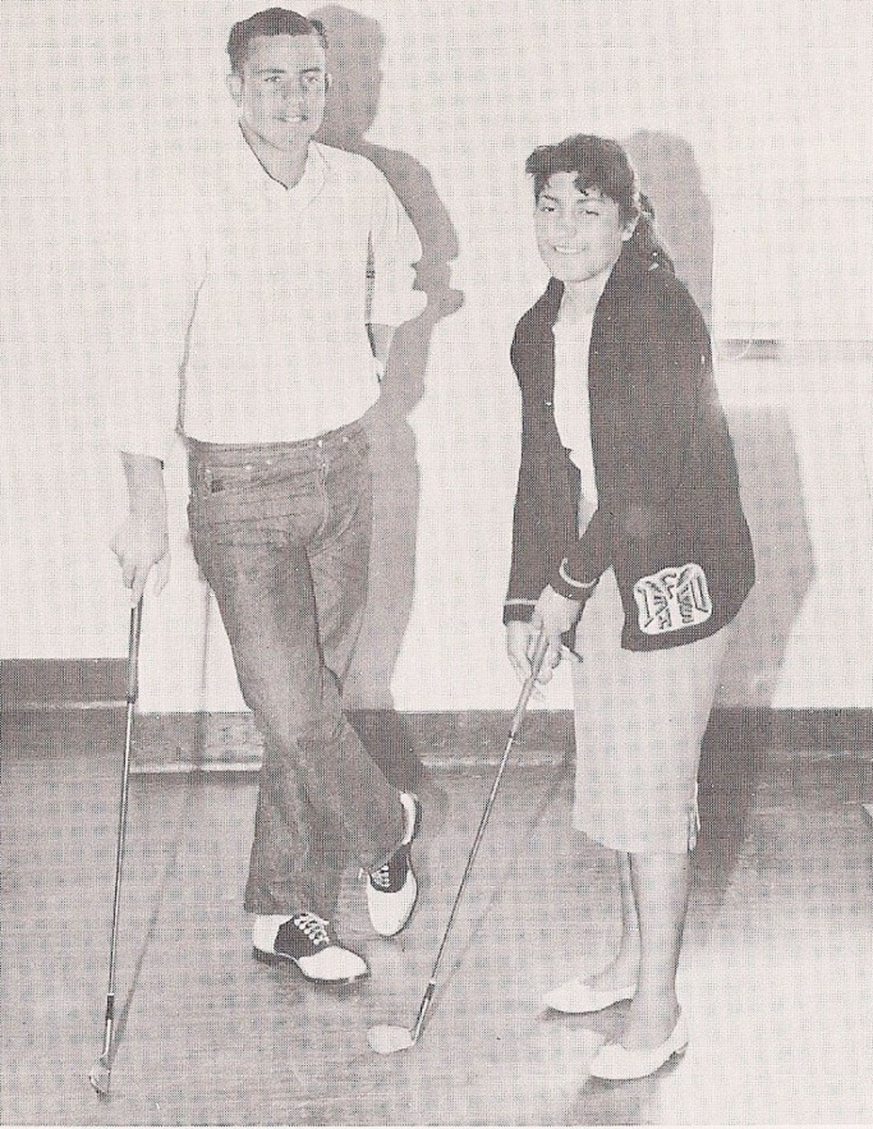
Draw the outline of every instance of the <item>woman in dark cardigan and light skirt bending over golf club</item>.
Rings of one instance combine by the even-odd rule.
[[[579,623],[573,825],[617,852],[623,918],[608,968],[546,1004],[630,999],[591,1073],[634,1078],[688,1042],[676,971],[700,739],[755,563],[706,326],[627,156],[576,135],[527,172],[552,279],[511,353],[523,406],[508,649],[524,677],[545,632],[547,681]]]

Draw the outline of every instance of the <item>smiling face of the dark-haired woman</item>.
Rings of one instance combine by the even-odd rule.
[[[623,227],[618,204],[598,189],[580,192],[577,173],[555,173],[537,200],[537,247],[562,282],[585,282],[612,269],[634,226]]]

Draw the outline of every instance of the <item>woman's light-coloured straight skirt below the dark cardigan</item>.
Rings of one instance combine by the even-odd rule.
[[[620,647],[615,574],[600,578],[576,628],[573,826],[628,852],[694,849],[700,741],[725,632],[662,650]]]

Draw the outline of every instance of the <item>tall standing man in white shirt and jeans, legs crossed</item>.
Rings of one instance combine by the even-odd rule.
[[[281,8],[231,30],[239,129],[189,191],[171,186],[178,215],[143,253],[143,386],[121,444],[130,519],[116,552],[134,602],[156,566],[160,586],[162,458],[178,426],[194,554],[264,738],[245,901],[255,956],[335,982],[367,972],[330,921],[347,856],[382,936],[417,894],[418,799],[363,749],[341,686],[367,596],[362,417],[395,327],[426,299],[412,289],[421,245],[387,181],[314,140],[325,46],[320,24]]]

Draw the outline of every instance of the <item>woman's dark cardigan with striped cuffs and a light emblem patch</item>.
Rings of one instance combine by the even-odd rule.
[[[553,326],[563,289],[549,281],[512,342],[522,439],[504,622],[528,620],[546,585],[584,602],[612,568],[626,649],[714,634],[751,588],[755,559],[704,320],[672,273],[625,246],[591,333],[599,504],[580,537],[579,471],[553,408]]]

